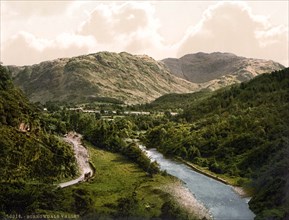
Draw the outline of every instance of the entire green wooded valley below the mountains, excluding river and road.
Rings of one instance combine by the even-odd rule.
[[[85,100],[79,108],[47,102],[47,111],[29,103],[1,67],[1,215],[202,217],[168,190],[180,190],[182,184],[160,171],[139,148],[141,141],[243,187],[252,196],[256,219],[284,219],[289,210],[288,88],[287,68],[215,92],[167,94],[143,105]],[[69,131],[83,135],[96,173],[61,189],[56,184],[78,174],[73,151],[61,138]]]

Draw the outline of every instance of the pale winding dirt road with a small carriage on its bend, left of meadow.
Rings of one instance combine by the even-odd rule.
[[[85,179],[91,177],[93,175],[93,170],[89,164],[89,155],[87,149],[81,144],[82,136],[75,132],[69,132],[64,140],[73,145],[73,150],[75,154],[75,158],[77,160],[77,164],[79,167],[79,171],[81,175],[74,180],[70,180],[68,182],[60,183],[59,187],[64,188],[67,186],[71,186],[77,184],[81,181],[85,181]]]

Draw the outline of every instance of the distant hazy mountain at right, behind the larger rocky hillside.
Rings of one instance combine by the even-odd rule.
[[[201,83],[203,88],[212,90],[284,68],[271,60],[220,52],[187,54],[179,59],[167,58],[162,62],[173,75],[193,83]]]

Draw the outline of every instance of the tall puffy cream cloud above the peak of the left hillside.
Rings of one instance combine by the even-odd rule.
[[[162,46],[154,8],[146,2],[101,4],[81,25],[79,34],[91,35],[115,51],[144,53]]]

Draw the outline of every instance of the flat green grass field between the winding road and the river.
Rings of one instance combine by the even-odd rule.
[[[158,217],[164,202],[172,196],[162,189],[178,180],[168,175],[148,176],[136,164],[120,154],[111,153],[85,144],[96,173],[88,182],[67,187],[66,195],[77,195],[76,205],[88,209],[79,214],[86,218],[110,216]],[[67,201],[67,206],[73,206]],[[89,203],[89,205],[87,205]],[[75,206],[75,204],[74,204]],[[81,207],[80,207],[81,208]]]

